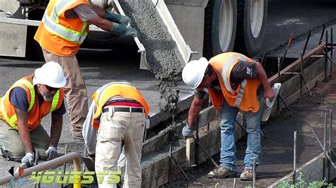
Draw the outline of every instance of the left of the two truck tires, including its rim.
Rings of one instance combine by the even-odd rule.
[[[209,0],[204,20],[203,56],[233,51],[237,28],[236,0]]]

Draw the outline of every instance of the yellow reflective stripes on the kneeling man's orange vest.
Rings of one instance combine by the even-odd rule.
[[[27,86],[27,88],[30,90],[30,104],[28,107],[28,112],[30,112],[30,110],[33,108],[34,103],[35,103],[35,90],[34,90],[34,86],[32,83],[30,83],[27,80],[18,80],[16,81],[15,84],[23,84],[25,86]],[[16,117],[16,114],[14,114],[12,117],[9,117],[6,113],[5,110],[5,106],[4,106],[4,102],[1,102],[1,113],[4,115],[4,119],[6,120],[6,122],[11,125],[11,127],[13,127],[13,129],[18,130],[18,127],[16,126],[15,122],[18,120],[18,118]]]

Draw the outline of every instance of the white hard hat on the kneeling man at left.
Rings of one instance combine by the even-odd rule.
[[[43,64],[41,68],[35,70],[35,76],[33,83],[43,84],[52,88],[62,88],[67,81],[65,80],[65,74],[60,64],[54,61]]]

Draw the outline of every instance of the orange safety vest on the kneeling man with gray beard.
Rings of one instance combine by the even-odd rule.
[[[28,98],[28,130],[32,131],[36,129],[40,123],[41,119],[45,117],[50,112],[57,110],[61,107],[64,99],[64,90],[60,88],[55,93],[52,101],[43,101],[41,106],[38,104],[37,91],[33,86],[34,75],[26,76],[16,81],[16,83],[7,90],[3,98],[0,98],[0,119],[4,120],[6,124],[13,127],[13,129],[18,130],[18,122],[16,117],[16,112],[14,110],[14,105],[10,102],[11,90],[15,87],[21,87],[26,90]]]

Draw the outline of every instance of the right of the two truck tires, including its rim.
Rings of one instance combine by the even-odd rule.
[[[250,57],[262,46],[267,21],[267,0],[237,0],[235,51]]]

